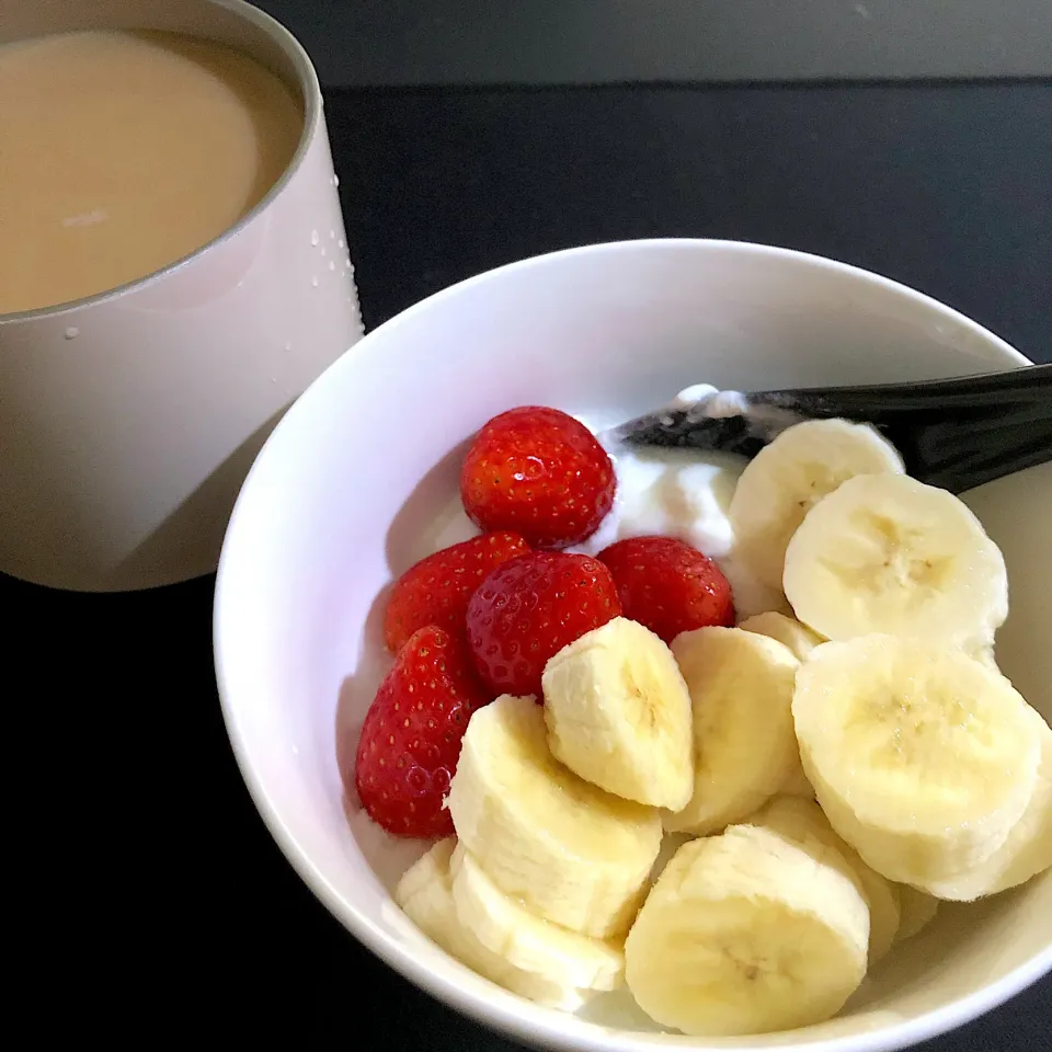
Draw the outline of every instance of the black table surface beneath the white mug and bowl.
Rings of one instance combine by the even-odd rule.
[[[516,258],[704,236],[870,267],[1052,359],[1052,83],[347,90],[327,112],[369,328]],[[23,979],[59,1005],[98,991],[111,1037],[145,1011],[242,1042],[511,1050],[371,958],[271,841],[219,712],[213,584],[0,579],[11,768],[35,761],[9,808]],[[1050,1032],[1045,979],[925,1049]]]

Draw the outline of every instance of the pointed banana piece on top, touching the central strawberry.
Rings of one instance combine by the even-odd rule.
[[[686,807],[694,792],[690,695],[658,636],[616,617],[560,650],[542,685],[556,759],[627,800]]]

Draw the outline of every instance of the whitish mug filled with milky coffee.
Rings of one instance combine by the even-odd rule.
[[[0,0],[0,571],[215,570],[362,335],[308,57],[240,0]]]

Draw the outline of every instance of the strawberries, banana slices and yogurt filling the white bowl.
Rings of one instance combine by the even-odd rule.
[[[697,469],[725,456],[650,459],[547,407],[483,425],[480,533],[396,581],[342,774],[435,841],[396,902],[508,991],[624,988],[699,1037],[824,1022],[940,901],[1052,867],[1052,728],[995,658],[1004,557],[864,424],[781,432],[718,530]]]

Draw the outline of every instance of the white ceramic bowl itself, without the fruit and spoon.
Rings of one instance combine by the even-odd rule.
[[[946,906],[837,1018],[756,1038],[660,1033],[621,995],[590,1018],[477,976],[395,906],[420,853],[350,808],[336,761],[384,672],[385,586],[458,531],[458,457],[489,416],[527,402],[605,426],[690,382],[763,389],[1011,368],[1007,344],[918,293],[839,263],[725,241],[637,241],[526,260],[387,322],[293,407],[227,533],[215,647],[227,728],[275,839],[332,913],[392,968],[519,1040],[554,1049],[877,1052],[993,1008],[1052,971],[1052,873]],[[1052,717],[1052,465],[969,503],[1008,562],[998,660]],[[345,757],[342,758],[345,762]]]

